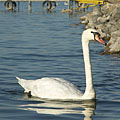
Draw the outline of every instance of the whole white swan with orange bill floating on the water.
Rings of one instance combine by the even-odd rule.
[[[47,99],[95,99],[96,94],[93,87],[92,70],[89,54],[89,41],[97,40],[105,45],[101,39],[100,34],[94,29],[87,29],[82,34],[82,48],[85,63],[86,74],[86,89],[83,94],[72,83],[61,78],[41,78],[37,80],[24,80],[19,77],[18,83],[24,88],[25,92],[30,93],[32,96],[47,98]]]

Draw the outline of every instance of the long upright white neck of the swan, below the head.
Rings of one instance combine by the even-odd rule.
[[[85,40],[84,37],[82,37],[82,48],[83,48],[85,75],[86,75],[86,89],[83,95],[83,99],[94,99],[95,90],[93,87],[93,80],[92,80],[92,66],[90,61],[89,41]]]

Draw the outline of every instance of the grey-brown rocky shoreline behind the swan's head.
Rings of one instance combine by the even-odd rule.
[[[104,40],[109,40],[103,54],[120,54],[120,1],[110,1],[80,18],[87,28],[95,28]]]

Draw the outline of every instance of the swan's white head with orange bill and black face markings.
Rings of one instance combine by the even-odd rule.
[[[101,35],[100,33],[97,32],[97,30],[95,29],[87,29],[85,31],[83,31],[83,34],[82,34],[82,40],[85,41],[85,42],[88,42],[89,41],[98,41],[100,43],[102,43],[103,45],[107,45],[101,38]]]

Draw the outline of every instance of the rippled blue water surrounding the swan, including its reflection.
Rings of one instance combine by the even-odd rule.
[[[83,13],[51,13],[40,3],[33,11],[0,8],[0,120],[120,120],[120,56],[99,55],[104,46],[92,42],[91,58],[96,101],[48,101],[29,98],[17,83],[41,77],[64,78],[85,89],[81,48]],[[2,6],[2,5],[0,5]]]

